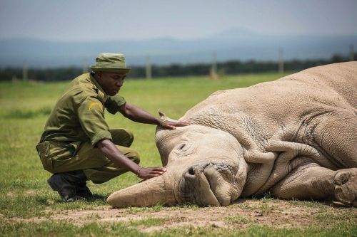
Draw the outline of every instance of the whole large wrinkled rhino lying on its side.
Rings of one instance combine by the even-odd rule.
[[[269,192],[357,206],[356,95],[356,61],[217,91],[180,118],[190,125],[156,129],[166,172],[107,202],[228,206]]]

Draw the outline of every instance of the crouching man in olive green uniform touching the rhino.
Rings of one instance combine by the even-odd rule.
[[[127,171],[141,179],[164,174],[162,167],[140,167],[139,154],[129,148],[134,135],[126,129],[110,130],[104,110],[121,112],[135,122],[168,129],[184,126],[154,117],[119,95],[126,73],[125,57],[119,53],[101,53],[91,73],[75,78],[59,98],[44,127],[36,149],[44,169],[53,175],[49,186],[63,201],[90,199],[86,181],[102,184]]]

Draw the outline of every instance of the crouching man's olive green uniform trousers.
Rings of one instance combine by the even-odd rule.
[[[129,148],[134,135],[124,129],[110,130],[110,132],[113,143],[120,152],[139,164],[138,152]],[[94,184],[101,184],[128,171],[111,162],[89,141],[72,143],[45,141],[37,144],[36,149],[44,169],[52,174],[83,170],[86,177]]]

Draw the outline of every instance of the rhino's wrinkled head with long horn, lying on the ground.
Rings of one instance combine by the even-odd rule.
[[[240,196],[247,165],[232,135],[198,125],[158,129],[156,145],[166,173],[116,191],[109,196],[109,204],[227,206]]]

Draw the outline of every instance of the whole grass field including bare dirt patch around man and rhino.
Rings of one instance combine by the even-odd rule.
[[[280,78],[278,74],[207,78],[126,80],[127,101],[174,119],[216,90],[240,88]],[[110,209],[111,192],[135,184],[124,174],[106,184],[89,183],[97,198],[63,203],[51,191],[34,146],[65,83],[0,84],[0,236],[357,236],[357,211],[314,201],[263,199],[229,207],[154,206]],[[136,136],[132,147],[143,166],[160,165],[153,125],[141,125],[106,113],[109,126]],[[205,218],[203,218],[205,217]],[[200,221],[201,220],[201,221]],[[327,223],[327,224],[326,224]]]

